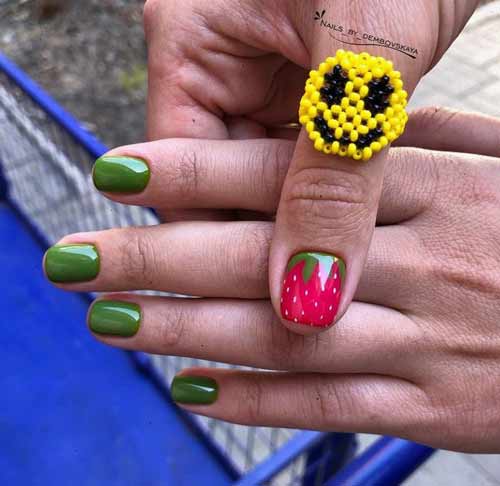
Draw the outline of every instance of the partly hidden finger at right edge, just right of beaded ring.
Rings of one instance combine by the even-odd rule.
[[[444,107],[413,111],[396,146],[500,157],[500,119]]]

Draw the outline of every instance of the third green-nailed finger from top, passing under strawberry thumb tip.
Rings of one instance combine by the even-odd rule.
[[[272,370],[405,376],[421,371],[420,359],[411,358],[422,356],[420,330],[379,306],[355,303],[331,332],[301,336],[281,325],[269,301],[115,294],[97,302],[89,312],[90,329],[97,339],[124,349]],[[140,314],[138,331],[127,339],[110,335],[129,336],[123,302],[138,306]]]

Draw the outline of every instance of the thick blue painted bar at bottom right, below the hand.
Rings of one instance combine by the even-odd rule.
[[[431,447],[408,440],[382,437],[325,486],[396,486],[434,452]]]

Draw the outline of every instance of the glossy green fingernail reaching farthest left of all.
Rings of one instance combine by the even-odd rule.
[[[45,273],[52,282],[86,282],[99,273],[94,245],[56,245],[45,254]]]

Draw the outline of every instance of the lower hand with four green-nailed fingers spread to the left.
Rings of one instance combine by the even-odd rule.
[[[213,297],[111,294],[89,313],[96,337],[113,346],[278,370],[185,370],[173,396],[204,402],[183,405],[196,413],[499,452],[500,121],[438,109],[410,120],[400,143],[431,150],[390,151],[379,226],[355,302],[326,333],[290,332],[267,300],[270,222],[179,222],[71,235],[60,244],[93,244],[99,273],[60,285]],[[293,142],[282,140],[122,147],[111,154],[147,160],[151,178],[140,194],[108,197],[160,209],[272,214],[292,151]],[[198,177],[186,158],[196,160]],[[49,277],[82,276],[81,260],[50,252]],[[210,380],[193,394],[199,376]]]

